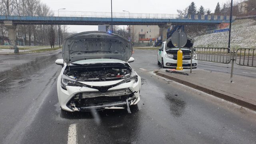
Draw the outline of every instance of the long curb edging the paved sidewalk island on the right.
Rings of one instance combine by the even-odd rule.
[[[249,102],[245,102],[243,100],[238,99],[238,96],[234,95],[234,94],[230,94],[221,90],[217,90],[208,86],[204,86],[202,84],[196,84],[196,83],[192,83],[192,82],[187,82],[185,80],[181,80],[179,78],[174,78],[173,76],[170,76],[168,74],[165,74],[164,72],[157,72],[156,75],[158,76],[162,76],[164,78],[168,78],[170,80],[174,80],[175,82],[178,82],[180,84],[184,84],[185,86],[189,86],[191,88],[194,88],[196,90],[200,90],[202,92],[205,92],[207,94],[211,94],[213,96],[216,96],[218,98],[222,98],[224,100],[227,100],[229,102],[233,102],[235,104],[238,104],[240,106],[249,108],[251,110],[256,110],[256,105],[249,103]]]

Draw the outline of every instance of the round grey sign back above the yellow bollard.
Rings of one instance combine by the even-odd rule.
[[[186,45],[188,37],[183,30],[177,30],[172,34],[171,41],[175,47],[180,48]]]

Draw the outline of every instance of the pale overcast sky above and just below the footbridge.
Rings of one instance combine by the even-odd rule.
[[[66,11],[111,12],[111,0],[41,0],[52,10],[66,8]],[[217,2],[220,5],[228,0],[112,0],[112,11],[131,13],[177,14],[194,1],[197,8],[201,5],[214,12]],[[229,0],[230,1],[230,0]],[[236,0],[234,0],[236,1]],[[98,26],[68,26],[68,32],[98,30]]]

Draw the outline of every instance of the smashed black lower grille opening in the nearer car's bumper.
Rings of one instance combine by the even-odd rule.
[[[124,109],[137,103],[138,98],[130,88],[107,92],[80,92],[66,104],[73,111]],[[128,104],[128,106],[127,106]]]

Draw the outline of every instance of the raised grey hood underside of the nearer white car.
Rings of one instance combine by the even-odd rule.
[[[98,58],[127,62],[131,56],[132,44],[126,38],[109,32],[73,34],[64,39],[62,48],[62,57],[67,64]]]

